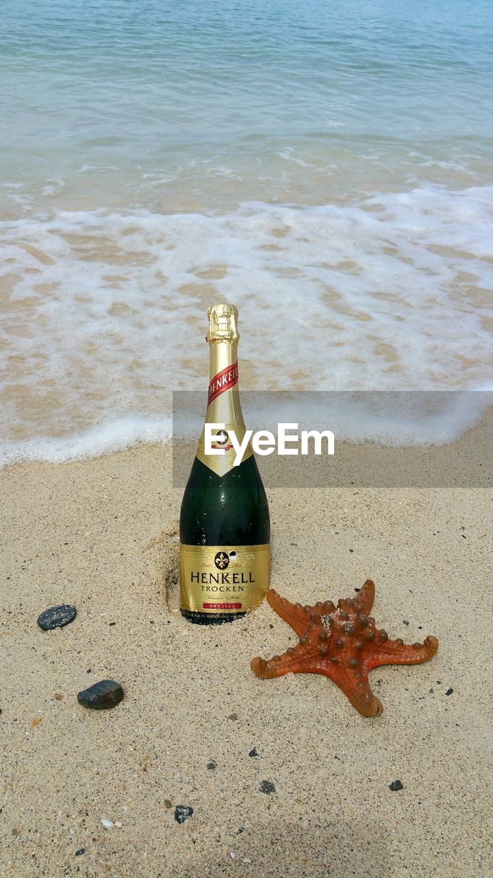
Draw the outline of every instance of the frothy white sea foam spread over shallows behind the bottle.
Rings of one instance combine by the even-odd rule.
[[[493,186],[4,221],[4,461],[165,439],[171,390],[207,382],[214,300],[239,306],[246,388],[485,385],[492,224]],[[450,441],[472,422],[451,419],[420,441]],[[354,415],[343,432],[414,441],[389,414],[383,427]]]

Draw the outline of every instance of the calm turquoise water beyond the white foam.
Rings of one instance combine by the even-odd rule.
[[[0,15],[0,172],[37,206],[99,206],[101,185],[161,210],[324,203],[347,175],[366,191],[491,173],[489,0],[4,0]]]

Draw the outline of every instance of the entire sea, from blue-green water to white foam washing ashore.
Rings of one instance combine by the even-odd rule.
[[[216,301],[246,389],[477,391],[412,442],[461,435],[491,83],[490,0],[3,0],[0,462],[167,442]]]

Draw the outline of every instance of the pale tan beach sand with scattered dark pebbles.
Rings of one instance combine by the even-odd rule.
[[[273,587],[313,603],[371,577],[377,626],[439,637],[430,662],[371,673],[368,719],[323,676],[254,677],[296,637],[267,603],[220,628],[182,619],[170,466],[148,446],[0,473],[4,874],[491,874],[491,491],[268,489]],[[39,630],[64,602],[75,622]],[[83,709],[108,678],[125,700]]]

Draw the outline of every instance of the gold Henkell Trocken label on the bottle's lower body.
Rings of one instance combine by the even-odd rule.
[[[211,615],[247,613],[268,592],[270,547],[180,546],[180,607]]]

